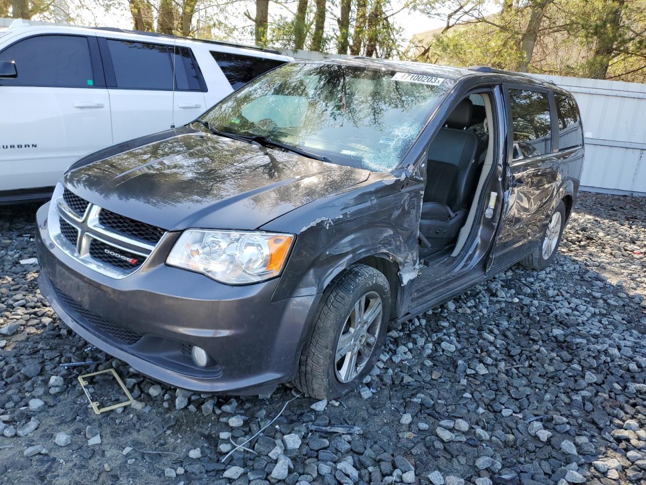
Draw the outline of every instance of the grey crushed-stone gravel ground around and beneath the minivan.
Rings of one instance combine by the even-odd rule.
[[[19,263],[35,209],[0,208],[3,484],[646,483],[646,198],[583,194],[551,268],[391,329],[329,403],[191,394],[88,348]],[[136,402],[96,416],[76,376],[109,367]]]

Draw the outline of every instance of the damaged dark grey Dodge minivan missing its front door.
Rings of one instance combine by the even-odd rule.
[[[388,326],[552,263],[578,107],[487,67],[289,63],[193,122],[82,158],[38,214],[41,292],[154,379],[335,398]]]

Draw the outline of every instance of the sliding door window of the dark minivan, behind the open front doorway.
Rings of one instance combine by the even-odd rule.
[[[514,160],[524,158],[521,152],[528,153],[529,147],[533,148],[530,156],[548,153],[552,146],[550,103],[547,94],[524,89],[510,89],[512,129],[514,131],[514,144],[525,147],[521,151],[514,151]]]

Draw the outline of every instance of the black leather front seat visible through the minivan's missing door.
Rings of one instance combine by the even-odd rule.
[[[426,189],[420,232],[430,243],[426,254],[442,250],[457,237],[471,205],[476,181],[476,153],[481,143],[470,124],[473,104],[462,100],[428,149]]]

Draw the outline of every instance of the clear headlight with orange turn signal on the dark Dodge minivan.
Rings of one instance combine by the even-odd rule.
[[[183,232],[166,264],[244,285],[280,274],[294,241],[291,234],[243,231]]]

